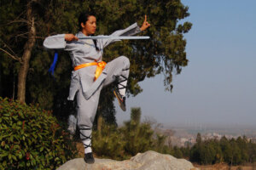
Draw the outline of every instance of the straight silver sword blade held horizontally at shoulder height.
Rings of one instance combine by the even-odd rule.
[[[139,36],[120,36],[120,37],[113,37],[113,36],[96,36],[96,37],[78,37],[79,39],[117,39],[117,40],[143,40],[149,39],[150,37],[139,37]]]

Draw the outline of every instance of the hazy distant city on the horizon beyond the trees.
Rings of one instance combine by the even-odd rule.
[[[256,143],[256,127],[253,126],[165,126],[160,131],[168,136],[166,143],[178,147],[194,145],[197,133],[201,133],[202,140],[219,140],[223,136],[227,139],[237,139],[246,136],[248,142]]]

